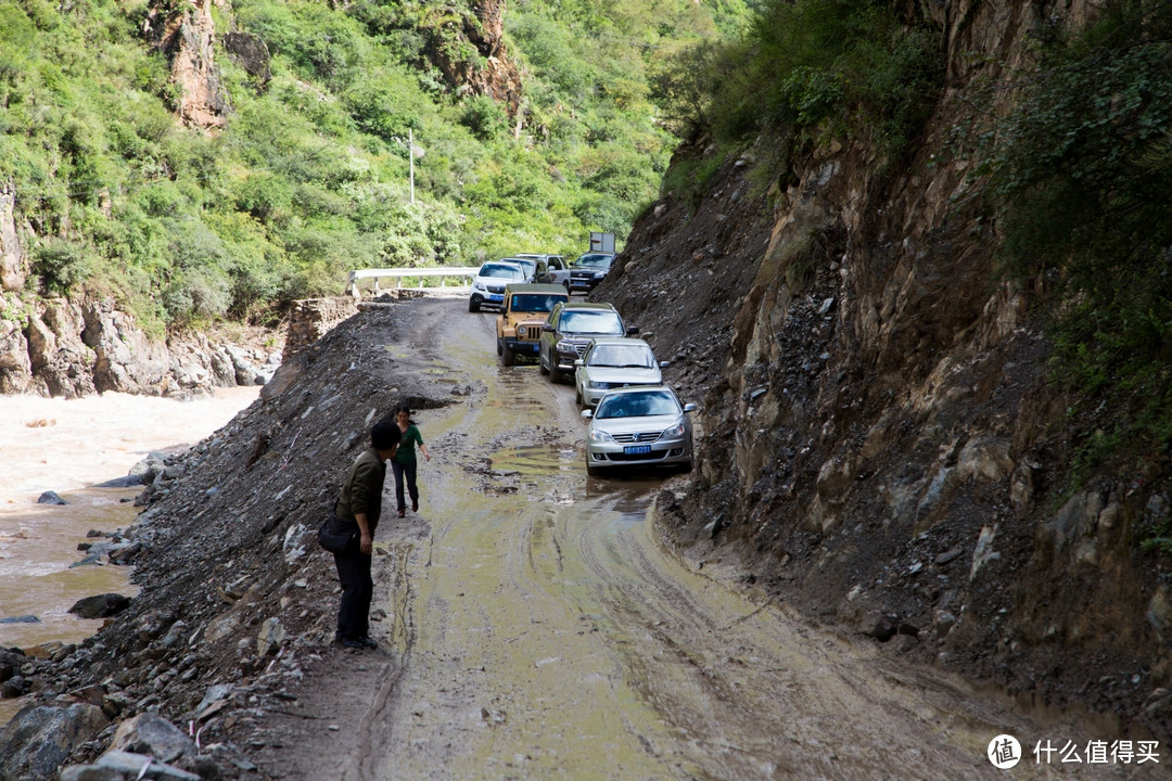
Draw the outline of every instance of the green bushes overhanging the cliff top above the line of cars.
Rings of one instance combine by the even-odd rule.
[[[725,143],[859,139],[888,162],[929,116],[943,74],[933,33],[881,0],[771,0],[745,41],[708,56],[708,105],[690,116]]]

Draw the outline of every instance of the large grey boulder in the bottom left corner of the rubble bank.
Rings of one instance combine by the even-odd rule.
[[[22,708],[0,728],[0,779],[56,777],[69,752],[108,724],[102,708],[88,703]]]

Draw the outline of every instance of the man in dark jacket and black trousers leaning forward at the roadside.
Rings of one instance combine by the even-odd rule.
[[[338,522],[357,527],[357,544],[334,554],[338,580],[342,584],[342,603],[338,609],[338,632],[334,639],[346,648],[376,648],[370,639],[370,597],[374,580],[370,577],[370,550],[374,530],[382,513],[382,482],[387,477],[387,461],[395,457],[401,432],[389,420],[370,429],[370,447],[355,459],[334,506]]]

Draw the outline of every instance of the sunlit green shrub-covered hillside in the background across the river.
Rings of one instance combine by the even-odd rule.
[[[675,143],[648,74],[745,14],[741,0],[2,0],[5,351],[52,299],[113,300],[158,341],[274,326],[353,268],[624,235]],[[22,384],[4,381],[12,361],[5,388]]]

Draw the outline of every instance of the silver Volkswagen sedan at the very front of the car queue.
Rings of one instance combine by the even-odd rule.
[[[674,465],[691,471],[691,420],[695,404],[680,404],[666,385],[612,390],[597,410],[584,410],[586,473],[599,475],[625,466]]]

